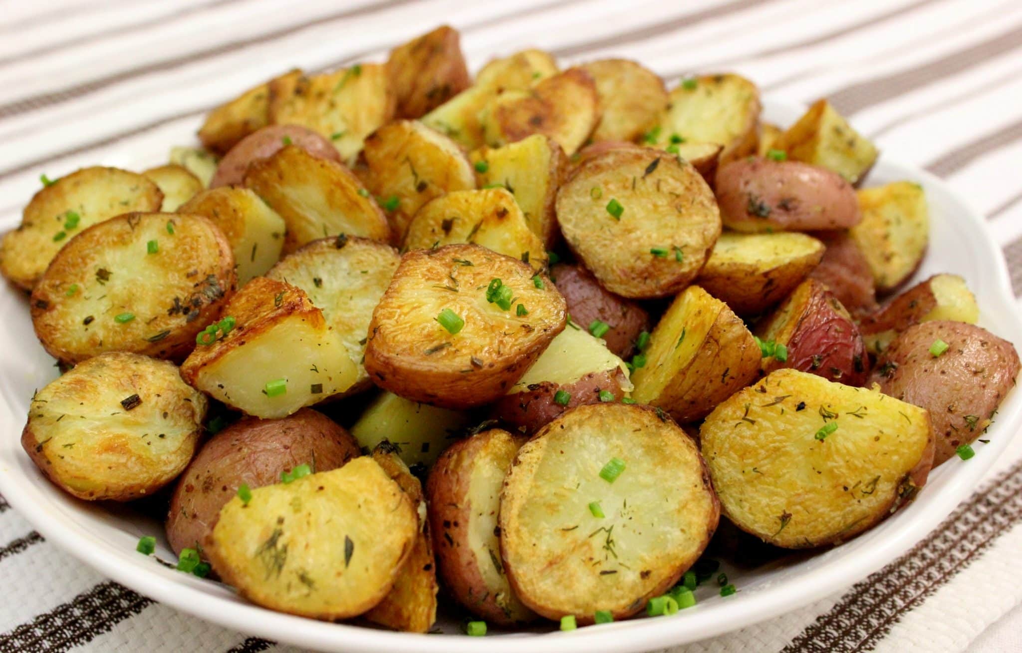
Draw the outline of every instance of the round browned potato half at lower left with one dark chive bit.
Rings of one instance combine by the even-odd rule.
[[[21,447],[64,492],[130,501],[181,473],[205,409],[205,398],[184,384],[174,364],[101,354],[33,395]]]

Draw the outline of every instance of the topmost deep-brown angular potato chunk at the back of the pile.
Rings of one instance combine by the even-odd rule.
[[[461,37],[446,25],[390,50],[386,65],[397,118],[425,115],[472,83]]]

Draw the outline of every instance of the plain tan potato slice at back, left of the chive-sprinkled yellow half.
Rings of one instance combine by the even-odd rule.
[[[593,141],[634,141],[667,107],[667,89],[656,73],[630,59],[579,65],[596,82],[602,116]]]

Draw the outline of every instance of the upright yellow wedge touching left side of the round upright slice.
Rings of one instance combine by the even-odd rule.
[[[528,228],[548,248],[560,235],[555,202],[566,161],[561,146],[543,134],[472,152],[479,188],[501,184],[511,191]]]

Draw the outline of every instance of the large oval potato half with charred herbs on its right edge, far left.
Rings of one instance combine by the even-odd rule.
[[[181,361],[234,285],[230,243],[205,218],[126,214],[57,252],[32,291],[32,324],[65,363],[103,352]]]

